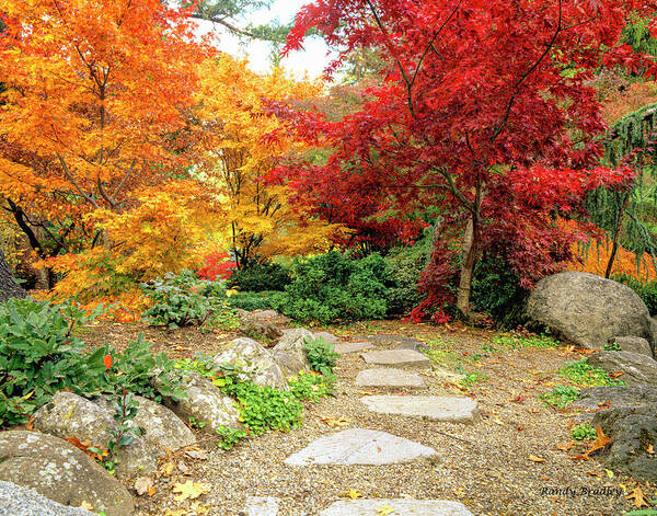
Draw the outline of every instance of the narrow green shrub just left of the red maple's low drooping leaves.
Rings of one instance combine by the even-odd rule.
[[[417,284],[427,265],[429,243],[425,238],[411,246],[394,248],[385,256],[393,283],[387,295],[389,314],[406,313],[426,297]]]

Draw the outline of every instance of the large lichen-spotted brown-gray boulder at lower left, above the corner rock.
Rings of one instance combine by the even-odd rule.
[[[60,504],[79,507],[87,502],[107,516],[130,516],[135,511],[126,488],[81,450],[51,435],[0,433],[0,480]]]

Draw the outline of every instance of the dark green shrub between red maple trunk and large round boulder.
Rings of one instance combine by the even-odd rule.
[[[528,291],[520,278],[502,257],[483,257],[476,264],[471,302],[475,310],[489,313],[498,325],[516,328],[525,322],[523,306]]]

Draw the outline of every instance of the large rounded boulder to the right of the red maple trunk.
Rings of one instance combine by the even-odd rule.
[[[630,287],[592,274],[568,271],[541,279],[526,311],[531,323],[581,346],[601,348],[616,335],[641,336],[654,346],[642,299]]]

